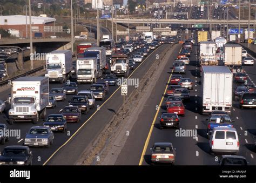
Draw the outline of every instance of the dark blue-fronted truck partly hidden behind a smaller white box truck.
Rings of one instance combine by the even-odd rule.
[[[106,66],[106,48],[105,47],[94,47],[94,48],[87,48],[84,52],[84,58],[97,58],[97,64],[99,65],[100,70],[102,73],[105,73],[105,66]]]

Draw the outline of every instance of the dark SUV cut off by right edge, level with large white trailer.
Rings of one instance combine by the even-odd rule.
[[[239,102],[239,107],[240,109],[244,109],[244,107],[256,107],[256,93],[242,93]]]

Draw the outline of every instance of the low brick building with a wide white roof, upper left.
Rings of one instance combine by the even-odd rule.
[[[55,18],[50,17],[35,17],[31,16],[31,28],[33,37],[35,35],[42,35],[42,37],[50,35],[48,32],[52,32],[52,30],[62,31],[62,26],[53,26]],[[27,30],[26,32],[26,24]],[[19,31],[19,37],[26,37],[26,33],[28,33],[28,37],[30,36],[29,31],[29,16],[25,15],[11,15],[11,16],[1,16],[0,18],[0,28],[4,30],[16,30]],[[42,34],[41,34],[42,33]],[[40,36],[41,37],[41,36]]]

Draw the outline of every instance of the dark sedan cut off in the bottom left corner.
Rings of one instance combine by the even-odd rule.
[[[28,146],[6,146],[0,155],[0,165],[32,165],[32,159]]]

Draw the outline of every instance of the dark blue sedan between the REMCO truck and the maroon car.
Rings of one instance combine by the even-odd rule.
[[[64,133],[68,125],[62,114],[49,114],[44,122],[44,127],[50,127],[52,131],[62,131]]]

